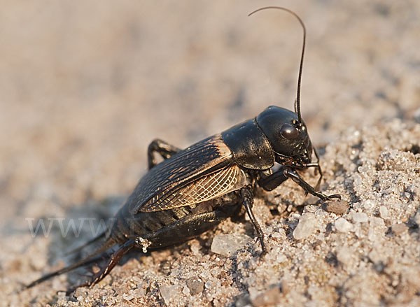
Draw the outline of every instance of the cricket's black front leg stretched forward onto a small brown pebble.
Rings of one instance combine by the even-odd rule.
[[[304,181],[304,179],[298,173],[296,173],[293,169],[290,169],[290,167],[282,167],[281,169],[279,169],[272,175],[266,178],[260,179],[258,181],[258,184],[263,189],[267,191],[271,191],[271,190],[274,190],[274,188],[281,185],[281,183],[286,181],[288,178],[291,178],[295,183],[300,185],[300,187],[302,187],[302,189],[305,192],[310,193],[322,199],[323,201],[330,201],[332,199],[341,199],[341,196],[339,196],[338,194],[325,195],[321,192],[316,191],[314,187],[312,187],[311,185],[309,185],[309,183]]]

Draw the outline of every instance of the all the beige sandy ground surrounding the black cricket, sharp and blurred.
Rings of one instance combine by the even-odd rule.
[[[285,183],[255,198],[265,257],[242,217],[134,252],[70,296],[57,291],[86,271],[17,293],[80,257],[63,254],[118,210],[153,138],[186,147],[271,104],[293,108],[302,29],[279,11],[246,17],[265,5],[307,26],[302,114],[321,190],[345,202]],[[420,306],[419,1],[1,6],[0,306]],[[59,221],[83,219],[63,238]],[[39,220],[48,236],[31,235]]]

